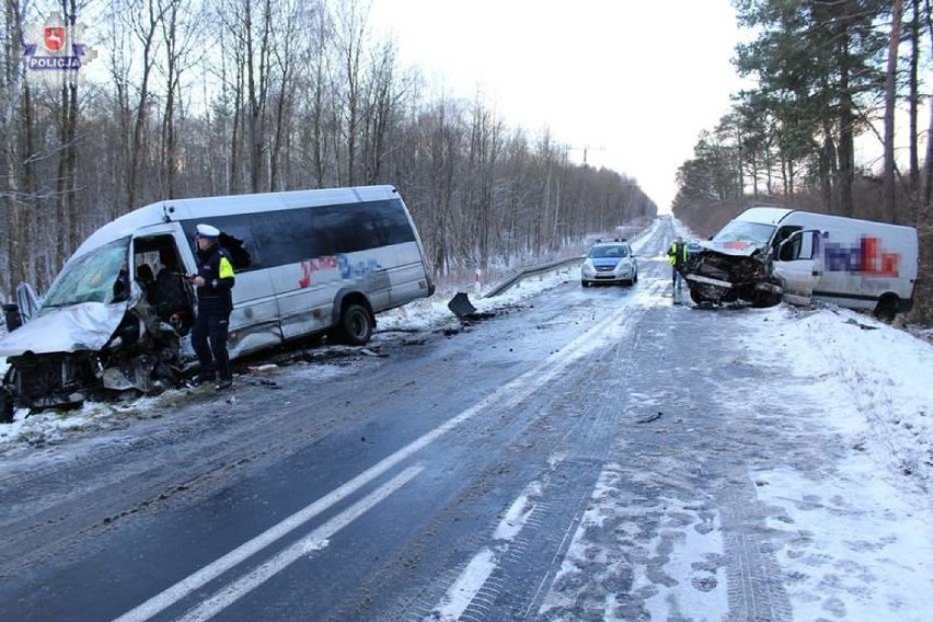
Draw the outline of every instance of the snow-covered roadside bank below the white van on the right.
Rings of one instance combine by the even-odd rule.
[[[793,361],[859,452],[897,481],[933,485],[933,345],[848,309],[780,306],[750,315],[742,341],[760,360]]]

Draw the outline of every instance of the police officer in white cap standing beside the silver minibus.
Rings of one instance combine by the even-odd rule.
[[[195,384],[217,380],[215,389],[233,385],[230,356],[227,353],[227,329],[233,309],[233,263],[220,245],[220,230],[210,224],[197,226],[197,319],[192,329],[192,346],[200,362]]]

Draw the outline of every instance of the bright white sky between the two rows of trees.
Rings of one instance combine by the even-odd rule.
[[[729,0],[372,0],[370,24],[437,93],[477,93],[509,127],[637,180],[663,212],[740,88]]]

